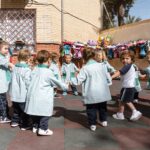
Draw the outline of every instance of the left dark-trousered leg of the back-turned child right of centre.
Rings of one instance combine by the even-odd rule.
[[[88,117],[89,125],[96,125],[97,120],[97,105],[96,104],[87,104],[86,112]]]

